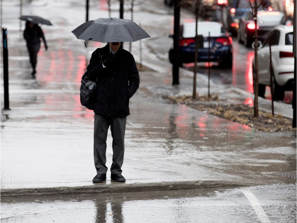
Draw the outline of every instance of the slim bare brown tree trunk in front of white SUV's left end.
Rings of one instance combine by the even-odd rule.
[[[254,117],[259,116],[258,95],[259,95],[259,66],[258,66],[258,29],[257,29],[257,1],[254,1],[254,21],[255,21],[255,100],[254,100]]]

